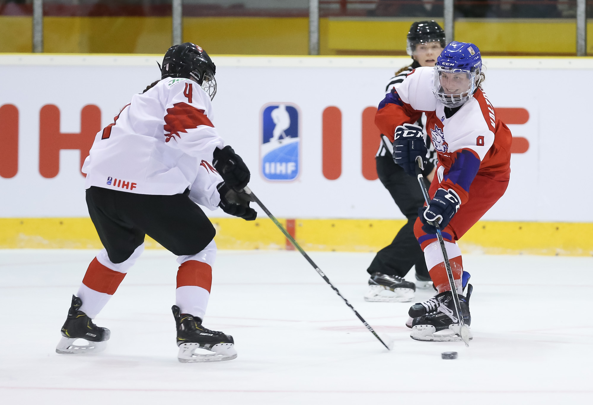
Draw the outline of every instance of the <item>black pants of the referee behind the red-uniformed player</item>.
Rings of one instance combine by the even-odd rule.
[[[385,246],[371,262],[366,270],[369,274],[380,272],[390,276],[404,277],[413,265],[420,280],[430,280],[424,260],[424,254],[416,236],[414,223],[418,217],[418,208],[424,204],[424,197],[417,179],[409,176],[398,164],[393,162],[389,153],[377,156],[377,174],[381,183],[390,192],[397,207],[408,222],[397,233],[391,245]]]

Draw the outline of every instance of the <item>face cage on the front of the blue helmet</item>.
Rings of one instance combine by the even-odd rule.
[[[470,72],[465,69],[445,69],[435,66],[432,93],[445,107],[459,107],[474,94],[479,78],[480,69]]]

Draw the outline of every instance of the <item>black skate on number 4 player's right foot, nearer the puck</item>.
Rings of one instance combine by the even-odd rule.
[[[180,314],[177,305],[171,309],[177,324],[177,358],[181,363],[216,362],[237,357],[232,336],[206,329],[202,319]],[[201,349],[202,353],[196,353],[196,349]]]

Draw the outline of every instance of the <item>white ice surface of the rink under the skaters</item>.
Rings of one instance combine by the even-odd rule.
[[[177,264],[166,251],[146,251],[95,319],[111,330],[105,352],[55,353],[95,253],[0,251],[1,403],[591,403],[592,258],[464,256],[474,285],[466,349],[410,339],[409,303],[364,302],[372,254],[311,253],[394,338],[387,352],[298,252],[221,251],[204,324],[232,334],[238,357],[183,364],[170,310]],[[445,351],[458,359],[442,360]]]

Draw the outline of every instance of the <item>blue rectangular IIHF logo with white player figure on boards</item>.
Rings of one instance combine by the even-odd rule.
[[[294,181],[301,171],[299,110],[292,103],[262,108],[260,159],[262,176],[270,181]]]

